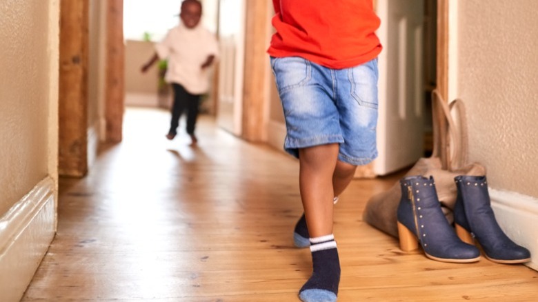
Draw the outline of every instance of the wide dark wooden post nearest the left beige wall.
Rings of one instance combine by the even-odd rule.
[[[59,159],[62,176],[88,172],[88,0],[61,1]]]

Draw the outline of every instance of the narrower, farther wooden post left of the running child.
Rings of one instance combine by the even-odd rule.
[[[123,0],[108,0],[106,5],[106,141],[117,143],[122,139],[125,98]]]

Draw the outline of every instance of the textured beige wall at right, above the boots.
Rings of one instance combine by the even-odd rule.
[[[538,1],[458,4],[458,97],[470,160],[493,188],[538,197]]]

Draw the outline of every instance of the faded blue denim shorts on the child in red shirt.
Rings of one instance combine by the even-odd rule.
[[[365,165],[377,157],[377,59],[331,69],[301,57],[271,57],[284,117],[284,149],[339,143],[340,161]]]

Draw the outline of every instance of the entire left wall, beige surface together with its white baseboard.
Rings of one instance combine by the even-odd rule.
[[[19,301],[57,225],[59,0],[0,1],[0,296]]]

